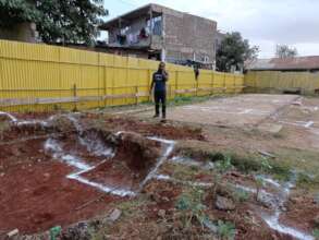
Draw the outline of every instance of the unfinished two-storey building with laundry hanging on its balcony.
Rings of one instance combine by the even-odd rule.
[[[214,67],[217,22],[148,4],[100,26],[112,52]]]

